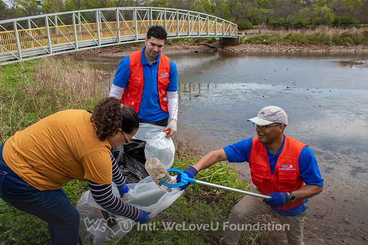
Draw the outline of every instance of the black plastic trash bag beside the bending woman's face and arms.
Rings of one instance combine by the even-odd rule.
[[[138,183],[149,175],[145,169],[146,141],[140,139],[130,141],[130,144],[120,145],[111,150],[127,184]]]

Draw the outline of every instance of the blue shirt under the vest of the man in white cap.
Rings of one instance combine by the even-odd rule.
[[[273,175],[279,155],[284,148],[284,143],[285,135],[283,145],[280,151],[276,154],[272,154],[265,145],[267,150],[268,162],[270,164],[271,175]],[[224,147],[227,160],[229,162],[249,162],[251,146],[252,138],[249,138]],[[323,179],[319,172],[317,160],[315,159],[312,151],[308,148],[308,146],[304,146],[304,148],[302,149],[302,152],[299,155],[298,164],[300,175],[304,183],[308,185],[323,186]],[[308,199],[304,200],[304,203],[306,202],[308,202]],[[295,216],[303,213],[307,209],[307,207],[302,204],[288,210],[280,210],[274,208],[272,209],[284,216]]]

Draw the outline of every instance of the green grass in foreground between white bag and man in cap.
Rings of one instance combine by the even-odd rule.
[[[197,158],[175,161],[173,167],[185,170],[196,162]],[[235,168],[229,168],[226,162],[220,162],[211,168],[204,169],[196,175],[197,180],[217,183],[233,188],[247,189],[241,182]],[[217,244],[223,234],[223,223],[229,212],[243,197],[242,194],[214,189],[198,184],[191,184],[169,208],[152,218],[156,231],[140,230],[136,226],[117,244]],[[179,230],[165,230],[168,224],[185,224]],[[201,226],[208,224],[209,230],[195,228],[189,230],[190,224]],[[211,225],[214,228],[211,230]],[[241,244],[250,244],[248,236],[255,237],[252,232],[244,232]]]

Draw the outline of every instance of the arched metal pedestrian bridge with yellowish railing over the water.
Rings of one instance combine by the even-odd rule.
[[[168,38],[237,37],[216,16],[169,8],[106,8],[0,20],[0,65],[89,48],[144,41],[150,26]]]

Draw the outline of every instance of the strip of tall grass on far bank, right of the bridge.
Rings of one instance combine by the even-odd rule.
[[[260,34],[250,36],[245,43],[299,43],[311,45],[368,45],[368,29],[363,30],[332,30],[296,33]]]

